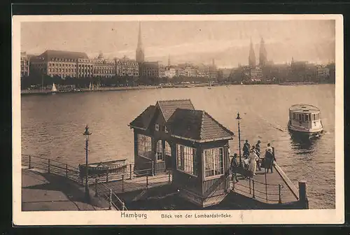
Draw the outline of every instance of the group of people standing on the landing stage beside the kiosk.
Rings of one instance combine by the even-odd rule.
[[[272,163],[276,161],[276,158],[274,157],[274,150],[271,147],[270,143],[267,143],[267,148],[265,150],[265,155],[262,157],[260,153],[260,143],[261,141],[259,140],[258,143],[253,145],[251,147],[250,143],[248,140],[243,145],[243,167],[246,171],[250,172],[251,176],[255,176],[256,171],[261,171],[261,168],[264,168],[267,173],[269,170],[272,171]],[[235,177],[235,180],[237,180],[237,169],[239,167],[239,163],[237,161],[237,153],[233,155],[233,158],[231,160],[231,171],[233,176]]]

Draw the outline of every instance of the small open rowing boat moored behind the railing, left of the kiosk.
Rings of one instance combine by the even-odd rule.
[[[127,169],[127,159],[118,159],[109,162],[96,162],[87,164],[88,176],[104,176],[107,173],[125,173]],[[79,164],[80,176],[86,175],[86,165]]]

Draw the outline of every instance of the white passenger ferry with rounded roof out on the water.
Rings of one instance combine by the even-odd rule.
[[[310,104],[290,106],[288,129],[309,137],[318,136],[323,131],[320,109]]]

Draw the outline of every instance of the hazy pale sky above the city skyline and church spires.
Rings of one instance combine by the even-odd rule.
[[[22,22],[21,51],[86,52],[96,57],[135,58],[139,22]],[[274,63],[335,60],[335,20],[142,21],[145,59],[167,64],[211,63],[219,67],[248,64],[250,42],[258,62],[264,38],[267,59]]]

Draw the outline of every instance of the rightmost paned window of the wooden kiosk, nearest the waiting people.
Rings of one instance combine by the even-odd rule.
[[[223,174],[223,148],[204,150],[205,177]]]

